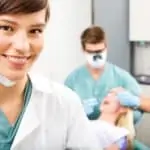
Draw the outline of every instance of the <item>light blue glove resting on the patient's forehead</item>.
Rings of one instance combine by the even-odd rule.
[[[140,98],[131,94],[128,91],[123,91],[117,94],[117,98],[122,106],[138,108],[140,106]]]

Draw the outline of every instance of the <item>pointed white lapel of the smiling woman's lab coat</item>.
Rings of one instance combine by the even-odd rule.
[[[36,96],[34,96],[34,99],[36,99]],[[32,132],[36,130],[40,125],[40,122],[36,115],[35,105],[33,104],[34,99],[32,96],[24,113],[24,117],[22,118],[20,127],[18,129],[11,149],[14,149],[20,142],[27,138],[27,136],[31,135]]]

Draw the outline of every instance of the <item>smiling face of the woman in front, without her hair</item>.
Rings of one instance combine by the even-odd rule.
[[[26,75],[43,48],[45,12],[0,15],[0,74],[10,80]]]

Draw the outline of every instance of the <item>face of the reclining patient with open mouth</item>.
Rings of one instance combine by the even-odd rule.
[[[122,109],[119,100],[117,99],[116,93],[109,93],[103,100],[100,106],[102,113],[119,113]]]

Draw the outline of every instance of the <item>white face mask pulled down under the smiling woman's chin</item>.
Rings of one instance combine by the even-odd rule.
[[[12,87],[16,84],[16,82],[11,81],[7,77],[0,74],[0,84],[2,84],[5,87]]]

